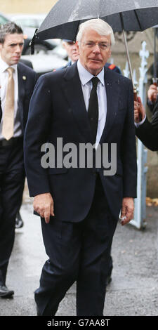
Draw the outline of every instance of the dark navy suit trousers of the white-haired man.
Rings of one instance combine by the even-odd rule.
[[[46,224],[41,218],[49,258],[41,272],[39,289],[35,291],[39,315],[55,315],[60,301],[75,281],[77,315],[103,315],[105,282],[116,226],[117,220],[110,213],[98,175],[93,202],[84,220],[69,223],[54,217]]]

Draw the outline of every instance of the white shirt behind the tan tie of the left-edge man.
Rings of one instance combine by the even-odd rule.
[[[9,66],[0,56],[0,97],[1,97],[1,110],[2,110],[2,119],[0,124],[0,140],[4,139],[2,135],[2,124],[4,117],[4,107],[6,101],[6,89],[8,84],[8,72],[6,71],[8,67],[13,67],[15,70],[13,72],[14,79],[14,137],[22,136],[22,130],[20,127],[20,120],[18,119],[18,65]]]

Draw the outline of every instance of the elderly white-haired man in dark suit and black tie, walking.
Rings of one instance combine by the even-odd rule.
[[[120,210],[122,225],[133,218],[133,88],[129,79],[105,68],[113,44],[110,25],[84,22],[77,35],[79,60],[41,76],[32,95],[25,169],[48,254],[35,291],[37,315],[55,315],[74,282],[77,315],[103,315]]]

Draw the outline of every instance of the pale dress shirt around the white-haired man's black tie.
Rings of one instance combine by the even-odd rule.
[[[91,94],[92,89],[92,81],[91,79],[94,77],[93,74],[88,72],[83,65],[81,65],[81,62],[78,60],[77,62],[77,68],[79,71],[79,79],[81,80],[81,88],[84,94],[84,102],[86,105],[86,110],[88,111],[88,104],[89,104],[89,98]],[[98,147],[98,144],[100,142],[100,138],[103,133],[103,129],[105,127],[105,121],[107,116],[107,94],[106,94],[106,88],[105,88],[105,81],[104,81],[104,68],[103,70],[98,74],[98,79],[100,80],[98,82],[97,86],[97,95],[98,95],[98,130],[97,130],[97,136],[96,136],[96,148]]]

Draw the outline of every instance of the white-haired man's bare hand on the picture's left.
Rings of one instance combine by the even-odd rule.
[[[39,213],[41,218],[45,218],[45,222],[49,223],[50,216],[54,216],[53,198],[49,192],[46,194],[37,194],[34,197],[34,211]]]

